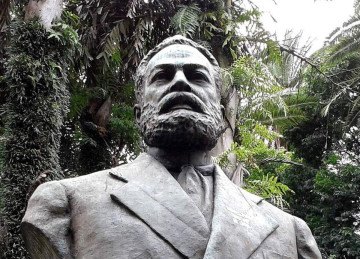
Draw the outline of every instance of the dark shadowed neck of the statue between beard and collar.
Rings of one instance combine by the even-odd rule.
[[[178,151],[149,147],[147,153],[162,163],[166,168],[178,168],[183,165],[211,164],[209,151]]]

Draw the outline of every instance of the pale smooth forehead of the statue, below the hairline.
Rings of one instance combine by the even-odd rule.
[[[149,61],[147,69],[159,64],[200,64],[212,68],[210,61],[196,48],[174,44],[156,53]]]

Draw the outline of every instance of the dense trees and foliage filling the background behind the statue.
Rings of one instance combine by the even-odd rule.
[[[359,1],[311,56],[301,35],[265,31],[251,0],[49,2],[0,0],[1,258],[28,257],[19,224],[39,184],[141,152],[132,76],[175,34],[223,68],[214,156],[229,177],[306,220],[324,258],[360,258]]]

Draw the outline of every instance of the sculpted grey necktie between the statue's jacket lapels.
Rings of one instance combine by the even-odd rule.
[[[205,220],[211,227],[213,215],[214,165],[196,166],[186,165],[181,168],[177,181],[200,209]]]

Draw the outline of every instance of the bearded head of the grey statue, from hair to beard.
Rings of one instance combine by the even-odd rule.
[[[135,116],[151,147],[210,150],[224,129],[221,75],[211,53],[182,36],[164,40],[135,76]]]

